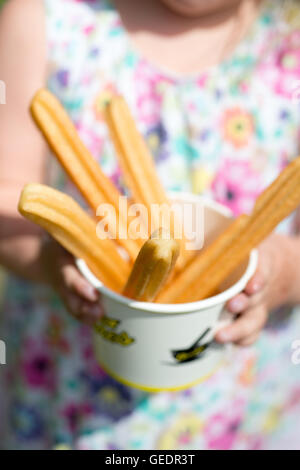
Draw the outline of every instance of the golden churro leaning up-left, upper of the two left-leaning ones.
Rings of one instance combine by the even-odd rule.
[[[124,210],[119,211],[120,192],[102,172],[80,140],[74,124],[60,102],[48,90],[41,89],[34,96],[30,109],[49,147],[95,214],[100,204],[108,203],[114,207],[119,220],[119,233],[125,234],[121,238],[117,237],[116,241],[134,260],[143,242],[132,240],[128,236],[126,202]]]

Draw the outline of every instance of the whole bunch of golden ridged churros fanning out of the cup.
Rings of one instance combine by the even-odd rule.
[[[175,239],[174,228],[181,221],[172,212],[170,227],[156,227],[152,235],[149,220],[144,220],[146,242],[139,237],[120,237],[124,231],[129,235],[130,205],[125,202],[120,211],[120,192],[82,143],[59,101],[42,89],[32,101],[31,113],[93,214],[69,196],[40,184],[24,188],[19,211],[75,257],[84,259],[107,287],[132,299],[187,303],[213,295],[250,251],[300,204],[299,157],[259,196],[251,215],[238,217],[203,251],[189,251],[184,239]],[[142,204],[148,215],[153,205],[170,206],[125,100],[112,98],[104,115],[132,201]],[[103,203],[112,205],[118,215],[114,239],[97,225],[95,216]]]

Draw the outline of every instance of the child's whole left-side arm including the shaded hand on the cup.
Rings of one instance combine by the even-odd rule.
[[[43,182],[46,147],[28,112],[46,79],[45,19],[41,0],[10,0],[0,15],[0,264],[32,281],[50,284],[67,310],[89,324],[102,315],[97,291],[80,275],[73,257],[17,211],[21,189]],[[3,47],[4,45],[4,47]]]

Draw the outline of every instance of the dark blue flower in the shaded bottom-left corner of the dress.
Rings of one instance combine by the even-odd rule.
[[[43,419],[32,406],[20,402],[14,403],[10,421],[12,429],[20,440],[30,441],[43,436]]]

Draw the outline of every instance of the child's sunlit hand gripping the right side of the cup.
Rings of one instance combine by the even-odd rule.
[[[244,291],[227,303],[227,310],[238,318],[217,333],[218,342],[251,345],[259,337],[269,312],[292,302],[296,277],[293,258],[297,257],[293,247],[291,238],[277,234],[262,243],[256,273]]]

